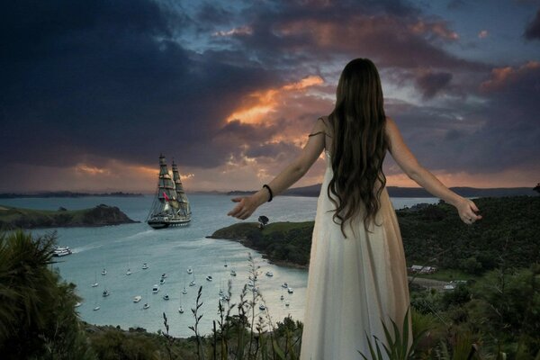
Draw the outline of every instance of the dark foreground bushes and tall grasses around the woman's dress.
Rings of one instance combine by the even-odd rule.
[[[489,208],[479,207],[481,210]],[[527,210],[527,207],[516,209]],[[415,216],[421,216],[421,212]],[[484,215],[484,219],[486,217]],[[531,218],[535,219],[535,215],[527,219]],[[511,227],[513,223],[507,225]],[[518,224],[522,225],[524,223]],[[281,226],[274,232],[295,229],[293,223]],[[415,339],[416,347],[407,352],[402,346],[406,343],[405,334],[399,330],[402,320],[396,320],[396,328],[388,329],[386,341],[392,359],[540,359],[539,255],[536,250],[536,254],[528,257],[532,261],[522,265],[515,255],[521,249],[513,245],[514,241],[520,241],[514,238],[518,232],[502,234],[506,236],[507,247],[498,251],[492,247],[485,249],[497,251],[490,269],[482,266],[482,271],[475,270],[474,275],[461,269],[448,273],[460,277],[470,275],[469,281],[459,284],[455,291],[410,289],[413,333],[407,336]],[[530,241],[537,244],[537,235]],[[54,235],[32,238],[30,233],[22,231],[0,234],[0,354],[3,359],[299,358],[302,323],[290,318],[272,323],[269,316],[256,315],[256,306],[264,303],[264,294],[248,291],[246,287],[239,294],[231,294],[229,288],[231,302],[220,303],[220,316],[214,321],[211,335],[207,336],[202,336],[198,329],[201,317],[208,316],[200,312],[202,287],[193,304],[191,338],[169,336],[169,329],[175,329],[176,324],[169,321],[165,313],[163,330],[157,334],[144,329],[86,324],[76,313],[75,304],[80,299],[75,285],[63,282],[51,270],[54,245]],[[475,251],[479,258],[484,256],[482,248]],[[253,259],[250,264],[250,277],[257,282],[257,265]],[[400,336],[395,337],[394,333]],[[382,358],[386,351],[382,340],[372,338],[374,352],[364,356]]]

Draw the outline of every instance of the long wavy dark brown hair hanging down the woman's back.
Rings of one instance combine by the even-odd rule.
[[[389,140],[384,130],[383,88],[374,63],[367,58],[350,61],[339,77],[336,97],[336,107],[329,114],[334,175],[328,194],[336,205],[333,220],[340,223],[347,238],[345,222],[360,212],[364,212],[365,229],[369,231],[368,222],[374,221],[381,208],[386,184],[383,160]],[[375,190],[377,180],[381,186]]]

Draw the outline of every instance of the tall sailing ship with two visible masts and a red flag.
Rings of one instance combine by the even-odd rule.
[[[165,157],[163,154],[160,155],[157,192],[147,218],[148,225],[154,229],[183,226],[191,221],[191,206],[174,160],[172,170],[173,177],[171,178]]]

